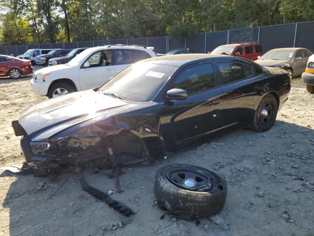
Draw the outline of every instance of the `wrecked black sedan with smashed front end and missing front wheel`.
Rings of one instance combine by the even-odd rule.
[[[207,54],[139,61],[104,86],[50,99],[12,125],[26,162],[147,163],[211,133],[266,131],[288,99],[287,71]]]

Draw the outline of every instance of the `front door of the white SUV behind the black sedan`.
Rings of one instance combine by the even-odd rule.
[[[88,67],[84,67],[83,62],[79,69],[80,89],[99,88],[104,85],[114,75],[113,65],[111,65],[111,51],[101,50],[92,54],[86,61]]]

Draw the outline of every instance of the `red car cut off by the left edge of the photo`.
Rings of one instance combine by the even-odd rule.
[[[33,67],[30,60],[0,55],[0,77],[9,76],[11,79],[18,79],[32,73]]]

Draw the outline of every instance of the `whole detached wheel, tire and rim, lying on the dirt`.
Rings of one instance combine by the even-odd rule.
[[[154,191],[159,208],[193,219],[221,211],[227,185],[222,177],[202,167],[172,164],[157,171]]]

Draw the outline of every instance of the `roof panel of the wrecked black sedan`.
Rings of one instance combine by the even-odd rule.
[[[160,65],[172,65],[172,66],[181,66],[185,63],[195,61],[202,62],[205,59],[220,59],[220,60],[230,60],[235,59],[235,57],[231,56],[221,56],[215,54],[179,54],[179,55],[170,55],[170,56],[161,56],[156,58],[145,59],[143,61],[149,61],[153,64]],[[238,58],[236,58],[238,59]]]

